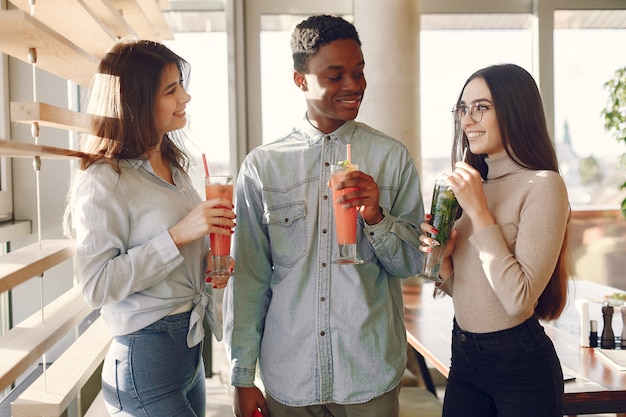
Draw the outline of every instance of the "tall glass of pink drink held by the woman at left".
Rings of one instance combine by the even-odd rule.
[[[206,177],[204,180],[206,199],[225,198],[233,201],[233,177],[230,175],[216,175]],[[228,228],[228,227],[225,227]],[[212,267],[209,275],[211,277],[228,277],[230,273],[230,234],[219,235],[211,233],[211,257]]]

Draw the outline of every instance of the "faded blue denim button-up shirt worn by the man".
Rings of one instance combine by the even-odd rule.
[[[378,184],[384,219],[359,216],[363,265],[338,257],[330,166],[352,161]],[[224,299],[234,386],[281,403],[363,403],[388,392],[406,365],[401,278],[415,275],[424,209],[406,147],[350,121],[323,134],[306,120],[250,152],[237,183],[235,276]]]

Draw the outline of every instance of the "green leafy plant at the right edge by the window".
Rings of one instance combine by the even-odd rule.
[[[606,108],[602,110],[604,127],[626,145],[626,67],[616,70],[613,78],[604,83],[604,88],[609,92]],[[626,166],[626,153],[622,154],[620,164]],[[626,182],[620,189],[626,189]],[[626,217],[626,198],[622,200],[622,214]]]

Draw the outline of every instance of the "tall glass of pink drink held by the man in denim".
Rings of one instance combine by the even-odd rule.
[[[357,227],[357,208],[343,208],[337,203],[337,199],[344,194],[355,191],[355,187],[343,188],[336,190],[334,184],[343,181],[343,178],[350,171],[357,171],[359,167],[356,164],[347,162],[339,162],[330,167],[331,184],[333,185],[333,208],[335,212],[335,232],[337,234],[337,243],[339,244],[339,258],[334,260],[334,264],[362,264],[363,261],[356,256],[356,227]]]

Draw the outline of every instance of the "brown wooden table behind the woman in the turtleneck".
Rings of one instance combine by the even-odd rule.
[[[404,311],[409,344],[446,378],[450,368],[451,331],[454,310],[448,296],[433,299],[434,285],[404,285]],[[563,315],[542,323],[552,339],[564,373],[575,377],[565,383],[564,415],[617,413],[626,417],[626,371],[620,371],[595,355],[592,348],[579,346],[580,320],[574,300],[590,300],[590,319],[602,331],[601,307],[605,294],[620,291],[590,281],[572,280]],[[613,331],[620,335],[622,318],[614,315]],[[429,375],[425,375],[428,379]]]

